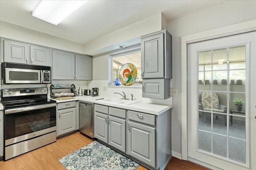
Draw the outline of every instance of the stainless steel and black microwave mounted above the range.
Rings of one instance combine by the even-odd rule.
[[[16,63],[2,63],[3,84],[49,84],[52,68]]]

